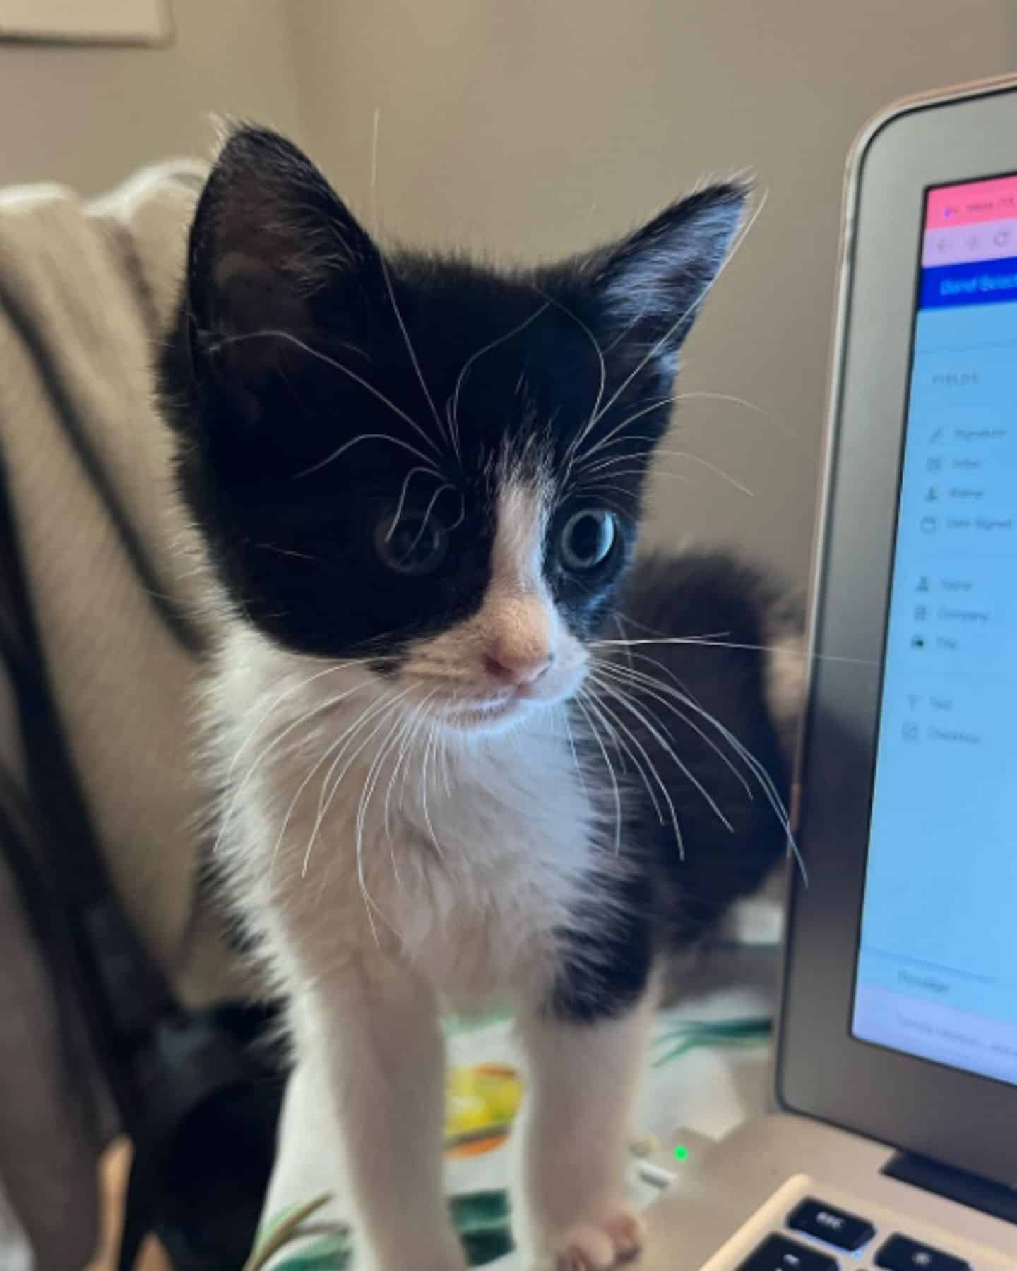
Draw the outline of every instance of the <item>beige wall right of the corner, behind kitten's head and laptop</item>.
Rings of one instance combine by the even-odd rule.
[[[753,165],[765,211],[689,344],[693,398],[653,533],[805,567],[844,156],[903,93],[1007,69],[1007,0],[304,0],[290,9],[320,161],[383,221],[530,258],[620,230],[700,173]]]

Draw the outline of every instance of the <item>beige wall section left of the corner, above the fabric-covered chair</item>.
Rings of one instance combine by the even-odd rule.
[[[206,154],[214,111],[299,132],[286,5],[172,0],[169,48],[0,43],[0,184],[103,189],[151,159]]]

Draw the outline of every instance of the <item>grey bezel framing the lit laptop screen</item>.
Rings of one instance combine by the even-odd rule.
[[[1017,85],[901,109],[845,201],[810,694],[775,1060],[787,1111],[1017,1183],[1017,1085],[852,1036],[925,193],[1017,172]],[[959,854],[959,868],[962,868]]]

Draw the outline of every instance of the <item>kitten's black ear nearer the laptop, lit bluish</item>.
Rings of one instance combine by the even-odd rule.
[[[647,365],[674,371],[678,350],[742,222],[749,192],[740,182],[709,186],[590,259],[605,343],[628,344]]]

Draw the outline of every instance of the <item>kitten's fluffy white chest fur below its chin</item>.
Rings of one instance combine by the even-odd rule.
[[[219,850],[270,962],[309,979],[374,944],[460,1009],[539,994],[556,933],[610,859],[563,712],[450,745],[411,733],[372,680],[242,628],[228,639]]]

